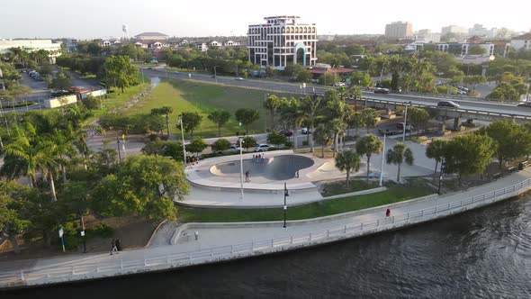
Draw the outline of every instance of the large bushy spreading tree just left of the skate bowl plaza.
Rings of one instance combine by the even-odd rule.
[[[160,156],[126,159],[94,192],[94,210],[103,215],[137,215],[175,220],[174,200],[188,194],[183,163]]]

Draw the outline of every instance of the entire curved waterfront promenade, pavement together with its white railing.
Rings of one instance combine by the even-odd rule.
[[[0,263],[2,287],[47,285],[108,276],[123,276],[149,271],[253,257],[285,250],[356,238],[379,231],[390,231],[443,218],[455,213],[499,202],[527,192],[531,171],[526,169],[484,186],[444,196],[430,196],[387,206],[339,214],[314,220],[261,223],[189,223],[175,231],[175,245],[128,250],[120,255],[72,256],[33,260],[17,267]],[[198,231],[198,240],[194,232]]]

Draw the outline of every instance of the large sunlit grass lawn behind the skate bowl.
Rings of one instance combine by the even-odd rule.
[[[198,112],[203,116],[202,123],[196,131],[193,131],[193,136],[208,138],[216,137],[218,134],[217,127],[207,119],[207,115],[212,111],[225,109],[230,113],[235,113],[239,108],[254,108],[260,113],[260,118],[249,126],[249,133],[257,133],[264,132],[266,121],[269,121],[269,113],[263,106],[265,95],[265,91],[256,89],[220,86],[188,80],[164,80],[146,98],[130,107],[125,113],[130,115],[150,113],[153,108],[170,106],[174,111],[170,116],[170,131],[177,133],[180,132],[175,127],[177,115],[182,112]],[[221,135],[234,135],[237,131],[244,130],[243,127],[238,126],[238,122],[232,117],[221,128]]]

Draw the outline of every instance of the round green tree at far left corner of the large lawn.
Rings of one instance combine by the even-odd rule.
[[[107,85],[125,87],[139,85],[139,70],[130,63],[128,56],[111,56],[105,62],[107,70]]]

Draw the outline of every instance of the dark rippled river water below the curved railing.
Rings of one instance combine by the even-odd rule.
[[[531,195],[313,249],[10,297],[531,298]]]

